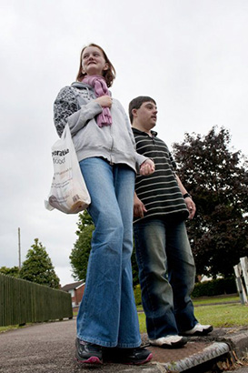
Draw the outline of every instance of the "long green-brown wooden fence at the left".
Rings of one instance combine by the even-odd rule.
[[[73,318],[69,293],[0,274],[0,327]]]

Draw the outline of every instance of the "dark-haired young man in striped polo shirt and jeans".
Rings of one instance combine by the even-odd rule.
[[[129,104],[136,150],[154,160],[151,176],[136,176],[134,240],[146,328],[150,343],[180,348],[187,336],[206,335],[193,314],[195,267],[185,219],[193,218],[195,205],[180,178],[164,141],[152,130],[157,106],[153,98],[139,96]]]

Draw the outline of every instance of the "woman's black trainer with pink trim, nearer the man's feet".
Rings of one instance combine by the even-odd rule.
[[[153,354],[146,348],[105,348],[104,360],[120,363],[142,365],[152,360]]]

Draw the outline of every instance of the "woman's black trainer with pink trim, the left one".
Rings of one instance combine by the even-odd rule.
[[[75,358],[79,363],[103,364],[102,346],[75,339]]]

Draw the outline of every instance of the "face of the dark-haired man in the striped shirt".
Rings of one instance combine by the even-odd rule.
[[[150,130],[156,126],[157,106],[153,101],[144,102],[139,109],[135,109],[135,116],[140,126]]]

